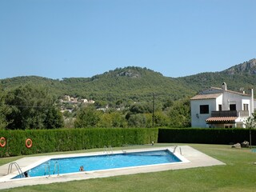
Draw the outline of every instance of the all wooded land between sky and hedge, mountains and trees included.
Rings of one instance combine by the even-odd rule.
[[[187,127],[194,94],[222,82],[230,90],[255,91],[255,69],[252,59],[220,72],[183,78],[135,66],[91,78],[6,78],[0,81],[0,129]],[[65,102],[64,95],[75,102]],[[78,102],[82,99],[94,102]]]

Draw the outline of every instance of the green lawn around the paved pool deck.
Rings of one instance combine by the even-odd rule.
[[[162,145],[161,145],[162,146]],[[230,146],[189,144],[226,166],[208,166],[186,170],[168,170],[149,174],[132,174],[110,178],[24,186],[2,191],[255,191],[256,153]],[[88,151],[88,150],[87,150]],[[78,151],[74,151],[77,153]],[[81,151],[82,152],[82,151]],[[69,152],[70,153],[70,152]],[[6,160],[7,159],[7,160]],[[0,165],[9,158],[0,158]],[[10,159],[10,161],[13,161]]]

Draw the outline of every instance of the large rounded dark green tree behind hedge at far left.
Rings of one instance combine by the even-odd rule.
[[[55,109],[54,99],[45,87],[19,86],[8,93],[6,104],[11,107],[6,115],[10,130],[45,129],[63,126],[62,114]]]

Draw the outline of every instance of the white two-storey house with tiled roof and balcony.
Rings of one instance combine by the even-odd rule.
[[[245,127],[255,109],[254,90],[250,94],[227,90],[224,82],[222,88],[211,87],[190,98],[190,104],[192,127]]]

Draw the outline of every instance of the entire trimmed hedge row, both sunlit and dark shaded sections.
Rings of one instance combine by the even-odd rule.
[[[142,145],[154,142],[230,144],[250,141],[248,129],[60,129],[60,130],[0,130],[6,146],[0,147],[0,157],[40,154],[54,151],[85,150],[103,146]],[[33,146],[26,148],[31,138]],[[251,130],[252,145],[256,145],[256,130]]]

